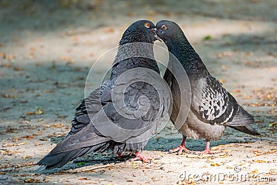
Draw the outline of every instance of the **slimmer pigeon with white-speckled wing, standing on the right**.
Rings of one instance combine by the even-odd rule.
[[[172,75],[175,73],[174,62],[181,62],[188,75],[191,88],[188,117],[184,125],[179,128],[184,136],[183,141],[171,152],[178,151],[178,154],[183,150],[190,152],[185,146],[188,136],[193,139],[206,139],[206,150],[201,153],[211,154],[210,141],[220,139],[226,126],[247,134],[260,135],[251,127],[254,123],[253,117],[238,105],[235,98],[222,87],[221,82],[211,76],[181,28],[175,22],[166,20],[159,21],[156,27],[157,35],[163,39],[170,52],[168,66],[172,68],[172,72],[167,69],[163,78],[168,82],[172,91],[173,106],[170,119],[173,123],[177,115],[182,114],[183,111],[179,107],[181,100],[179,85],[175,76]],[[174,61],[174,58],[177,60]]]

